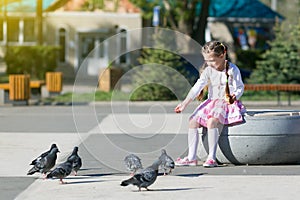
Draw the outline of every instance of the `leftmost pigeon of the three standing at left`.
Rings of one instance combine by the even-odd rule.
[[[35,165],[28,171],[27,175],[32,175],[36,172],[46,175],[46,173],[49,172],[52,167],[54,167],[57,159],[56,154],[58,152],[58,148],[53,148],[47,156],[36,161]]]

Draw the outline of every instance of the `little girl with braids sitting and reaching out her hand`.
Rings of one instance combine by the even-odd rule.
[[[198,128],[207,127],[209,154],[204,167],[216,167],[216,151],[219,134],[223,125],[235,125],[243,122],[246,109],[238,99],[244,92],[240,70],[226,60],[227,47],[218,41],[211,41],[202,47],[205,68],[198,81],[189,91],[185,100],[175,108],[182,112],[208,85],[208,98],[191,115],[188,130],[188,156],[178,158],[177,166],[197,165]]]

